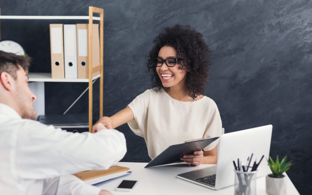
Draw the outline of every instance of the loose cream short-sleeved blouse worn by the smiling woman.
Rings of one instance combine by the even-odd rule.
[[[191,139],[220,137],[222,134],[219,110],[207,96],[185,102],[173,99],[163,89],[158,93],[149,89],[128,106],[134,114],[134,120],[128,125],[136,135],[145,139],[151,159],[170,145]],[[204,150],[213,149],[218,141]]]

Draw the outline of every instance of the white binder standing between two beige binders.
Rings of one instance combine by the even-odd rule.
[[[77,78],[76,24],[64,24],[65,78]]]

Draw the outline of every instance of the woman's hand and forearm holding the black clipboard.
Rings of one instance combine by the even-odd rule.
[[[200,164],[217,164],[217,146],[209,151],[196,151],[193,154],[184,155],[183,158],[186,163],[193,165]]]

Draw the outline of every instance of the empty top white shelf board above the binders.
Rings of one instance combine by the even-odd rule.
[[[0,19],[40,19],[40,20],[89,20],[89,16],[0,16]],[[100,17],[92,17],[99,20]]]

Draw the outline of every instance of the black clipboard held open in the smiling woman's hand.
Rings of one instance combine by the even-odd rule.
[[[171,145],[167,149],[165,149],[162,153],[160,153],[158,156],[156,156],[156,158],[154,158],[151,162],[149,162],[144,168],[182,162],[180,158],[184,154],[193,154],[193,152],[195,151],[200,151],[218,138],[219,137],[203,138],[186,141],[185,143],[182,144]]]

